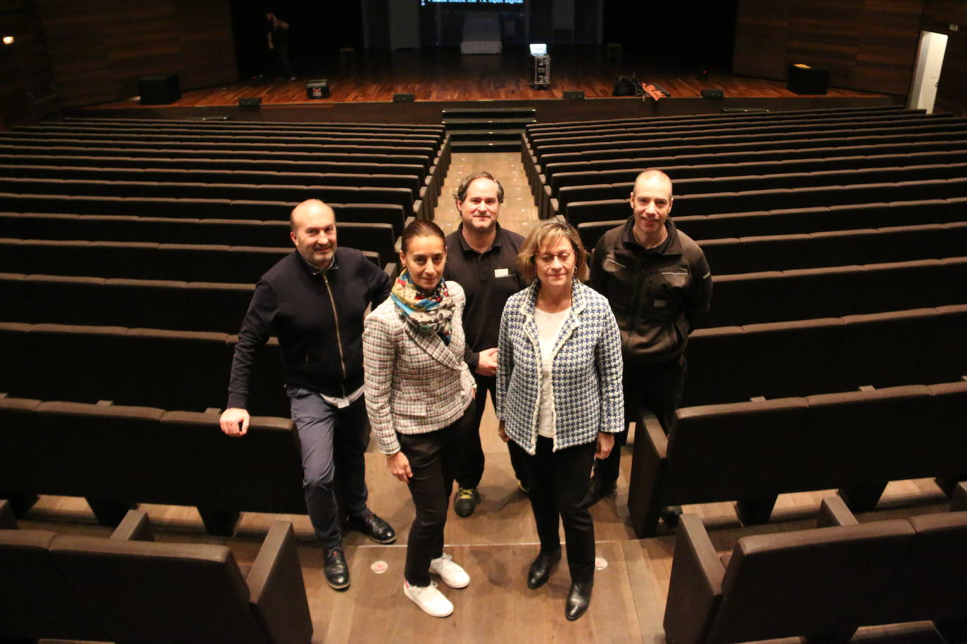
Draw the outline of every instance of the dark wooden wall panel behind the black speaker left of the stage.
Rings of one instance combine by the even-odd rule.
[[[137,78],[177,73],[182,89],[238,79],[227,0],[39,0],[65,106],[137,94]]]

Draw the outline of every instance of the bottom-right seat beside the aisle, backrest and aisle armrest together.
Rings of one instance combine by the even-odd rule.
[[[664,613],[677,644],[808,635],[847,641],[915,543],[903,519],[749,535],[723,564],[700,518],[675,541]]]

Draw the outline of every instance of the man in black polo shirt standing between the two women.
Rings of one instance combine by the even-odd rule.
[[[469,517],[480,501],[477,486],[484,476],[480,425],[486,392],[490,392],[492,401],[497,384],[500,316],[507,298],[526,286],[516,269],[517,252],[524,238],[497,223],[500,205],[504,202],[504,187],[489,172],[465,177],[456,188],[455,198],[461,222],[447,236],[444,276],[459,283],[467,296],[463,310],[463,332],[467,339],[465,360],[477,380],[477,412],[476,429],[467,434],[463,461],[456,474],[454,511],[460,517]],[[526,493],[526,470],[522,463],[515,462],[513,452],[511,465],[518,487]]]

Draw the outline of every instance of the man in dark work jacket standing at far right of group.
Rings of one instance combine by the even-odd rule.
[[[608,298],[621,329],[625,358],[626,418],[637,406],[652,410],[665,434],[685,391],[689,333],[712,300],[712,273],[705,254],[668,217],[668,175],[645,170],[631,190],[629,220],[601,236],[591,262],[590,285]],[[591,499],[615,489],[628,428],[615,435],[615,449],[595,461]],[[674,510],[674,509],[672,509]],[[668,523],[674,511],[662,513]]]

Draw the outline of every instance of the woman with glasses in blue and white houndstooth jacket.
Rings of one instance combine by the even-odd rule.
[[[594,585],[595,529],[583,503],[588,477],[624,427],[621,338],[607,300],[579,281],[587,277],[587,253],[570,225],[542,222],[517,265],[533,283],[507,300],[500,322],[499,432],[527,463],[531,484],[541,551],[527,585],[542,586],[561,559],[563,520],[571,570],[565,615],[575,620]]]

